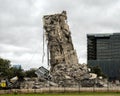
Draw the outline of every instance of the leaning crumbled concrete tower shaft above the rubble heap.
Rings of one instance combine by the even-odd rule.
[[[46,15],[43,17],[46,39],[50,51],[51,70],[57,64],[78,64],[71,32],[67,24],[67,14]]]

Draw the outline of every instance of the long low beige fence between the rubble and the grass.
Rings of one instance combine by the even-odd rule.
[[[0,90],[0,94],[27,94],[27,93],[72,93],[72,92],[120,92],[120,86],[116,87],[44,87],[39,89],[6,89]]]

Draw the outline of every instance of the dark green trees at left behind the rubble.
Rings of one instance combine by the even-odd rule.
[[[21,67],[13,67],[10,60],[0,57],[0,79],[10,79],[15,76],[19,78],[36,77],[35,71],[34,69],[25,71]]]

